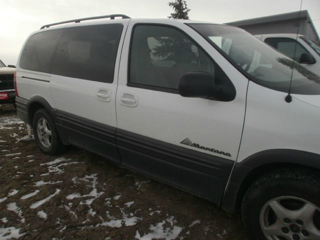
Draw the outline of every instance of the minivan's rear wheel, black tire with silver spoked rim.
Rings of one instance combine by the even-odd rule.
[[[65,150],[49,113],[41,108],[33,116],[32,124],[35,141],[40,150],[48,155],[61,153]]]

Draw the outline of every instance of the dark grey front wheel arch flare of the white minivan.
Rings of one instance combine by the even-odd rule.
[[[320,170],[320,154],[294,149],[269,149],[235,163],[221,208],[228,212],[237,211],[246,189],[257,177],[269,170],[286,166]]]

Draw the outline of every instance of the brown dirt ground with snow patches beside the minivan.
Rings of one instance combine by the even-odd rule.
[[[211,202],[75,147],[48,156],[0,105],[0,239],[247,239]]]

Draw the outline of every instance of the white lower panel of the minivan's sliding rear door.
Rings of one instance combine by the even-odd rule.
[[[106,94],[100,92],[102,89],[108,90],[108,97],[96,95]],[[50,91],[57,109],[116,126],[114,114],[116,84],[51,75]]]

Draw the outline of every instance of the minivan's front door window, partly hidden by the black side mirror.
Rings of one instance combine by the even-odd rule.
[[[215,76],[217,84],[232,85],[221,68],[182,32],[159,25],[134,28],[130,83],[177,89],[181,76],[189,71],[206,71]]]

